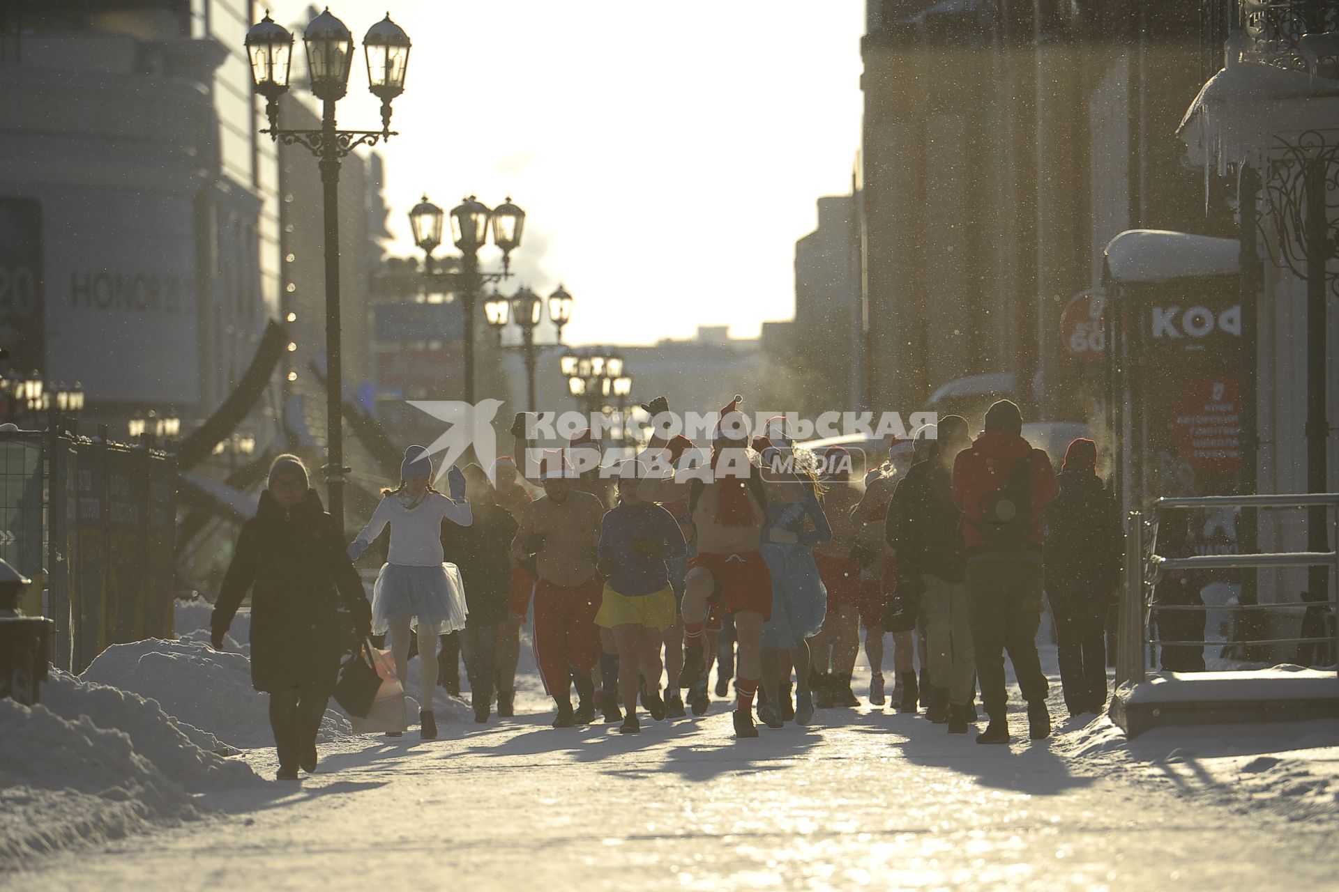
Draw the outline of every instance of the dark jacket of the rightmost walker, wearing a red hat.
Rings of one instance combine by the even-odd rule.
[[[1103,602],[1121,580],[1125,531],[1115,497],[1087,471],[1065,471],[1046,506],[1046,590],[1091,592]]]

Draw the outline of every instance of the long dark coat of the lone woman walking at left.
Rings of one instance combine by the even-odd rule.
[[[242,524],[210,623],[226,627],[252,592],[256,690],[335,690],[343,653],[339,608],[358,627],[372,615],[343,539],[315,489],[292,508],[266,489],[256,516]]]

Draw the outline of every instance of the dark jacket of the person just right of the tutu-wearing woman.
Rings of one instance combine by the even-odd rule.
[[[474,623],[499,623],[507,618],[511,591],[511,540],[517,523],[511,512],[493,499],[477,499],[474,523],[442,524],[442,551],[461,568],[465,603]]]

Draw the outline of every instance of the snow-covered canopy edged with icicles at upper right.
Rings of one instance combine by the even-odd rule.
[[[1186,160],[1224,175],[1229,163],[1257,162],[1277,147],[1279,135],[1334,128],[1336,122],[1339,82],[1236,62],[1205,82],[1177,135]]]

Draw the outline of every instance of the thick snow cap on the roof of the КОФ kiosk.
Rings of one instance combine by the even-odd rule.
[[[1235,238],[1130,229],[1106,246],[1106,266],[1111,281],[1125,284],[1235,275],[1241,269],[1240,251]]]

